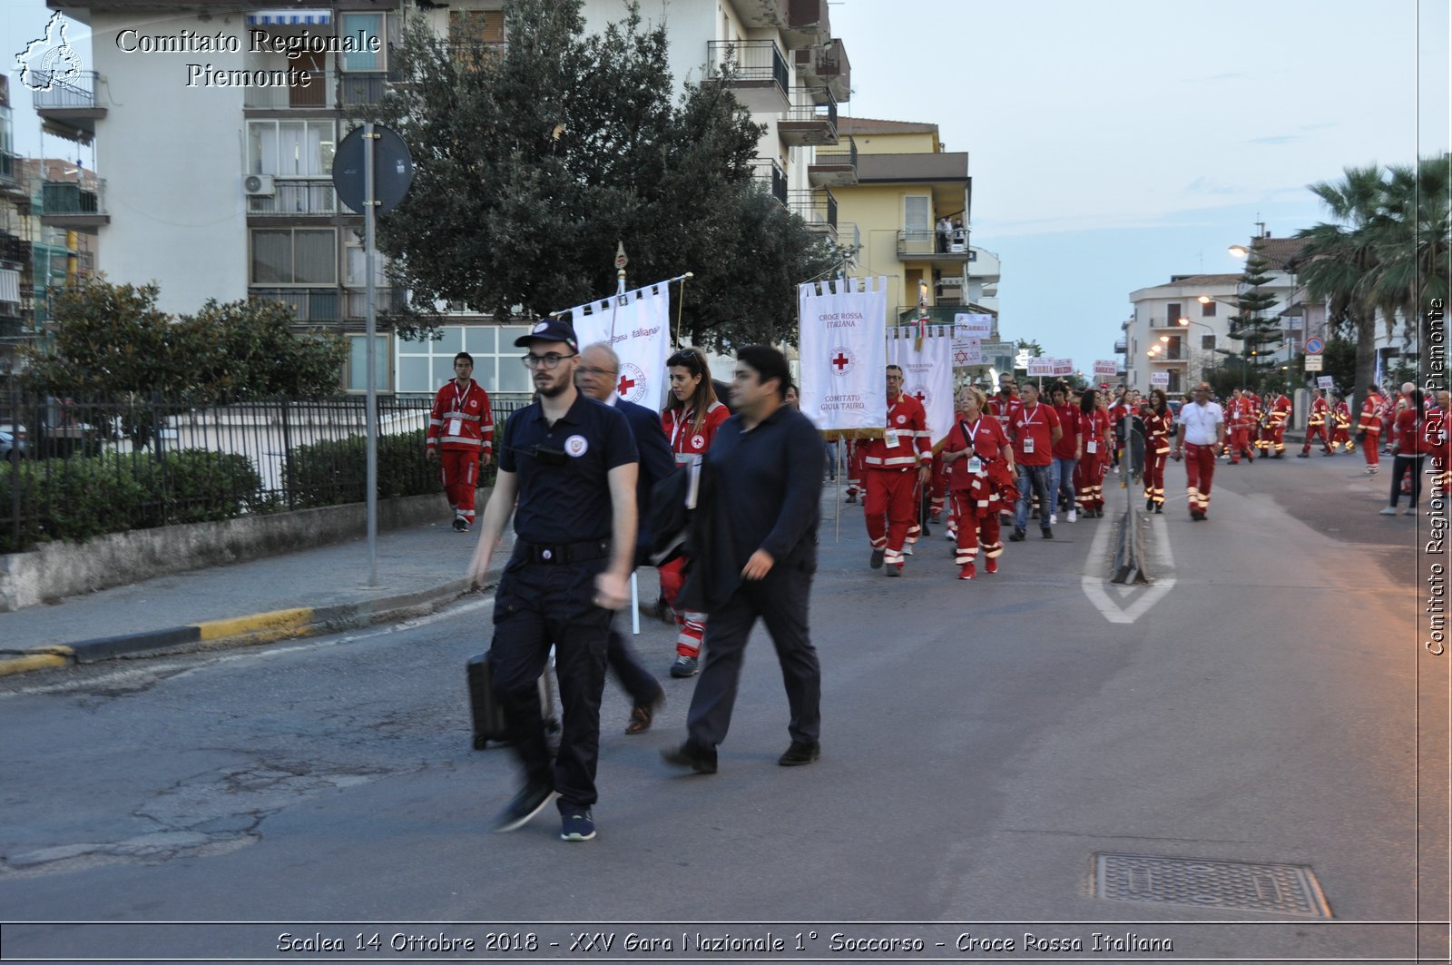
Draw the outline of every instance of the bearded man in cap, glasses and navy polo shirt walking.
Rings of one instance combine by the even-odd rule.
[[[499,474],[469,564],[470,584],[484,586],[513,510],[517,541],[494,594],[489,669],[524,788],[494,828],[524,825],[558,795],[560,837],[587,841],[595,836],[610,616],[629,602],[635,568],[636,445],[619,410],[575,388],[579,350],[568,323],[540,321],[514,344],[529,350],[539,400],[504,426]],[[550,644],[563,712],[553,763],[537,690]]]

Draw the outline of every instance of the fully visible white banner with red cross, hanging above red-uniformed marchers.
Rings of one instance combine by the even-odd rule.
[[[802,411],[825,433],[881,435],[887,421],[887,279],[797,286]]]

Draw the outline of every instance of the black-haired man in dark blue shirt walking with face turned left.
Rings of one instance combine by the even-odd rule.
[[[687,714],[688,738],[662,757],[697,773],[716,773],[726,740],[746,638],[762,618],[787,687],[791,746],[777,760],[807,764],[820,754],[822,667],[807,628],[816,530],[822,503],[822,437],[786,404],[791,372],[775,349],[748,346],[736,356],[732,404],[706,453],[713,498],[726,501],[738,584],[711,607],[706,667]]]

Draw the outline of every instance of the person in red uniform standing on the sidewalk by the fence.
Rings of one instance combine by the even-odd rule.
[[[443,452],[440,452],[440,449]],[[454,356],[454,378],[434,395],[428,413],[424,456],[440,464],[454,532],[473,526],[473,494],[479,488],[479,468],[489,465],[494,452],[494,413],[489,394],[473,381],[473,356]]]

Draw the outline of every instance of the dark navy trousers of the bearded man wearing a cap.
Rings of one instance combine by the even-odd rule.
[[[595,802],[600,759],[600,698],[605,687],[610,610],[594,605],[595,576],[608,561],[569,565],[530,562],[515,555],[494,594],[489,664],[494,695],[504,705],[508,740],[529,783],[559,792],[560,811]],[[555,645],[555,673],[563,731],[550,767],[539,677]]]

